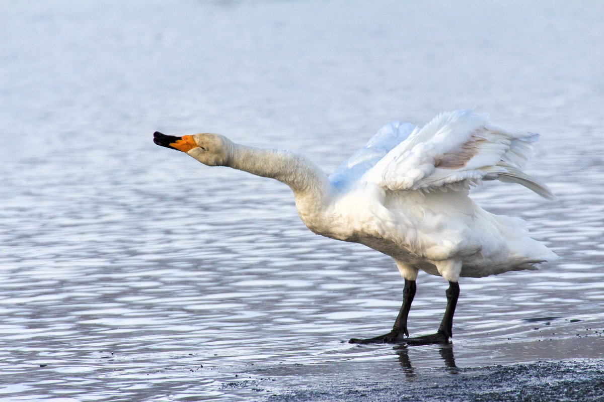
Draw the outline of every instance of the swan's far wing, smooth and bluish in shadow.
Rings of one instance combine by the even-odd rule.
[[[336,187],[345,187],[358,181],[395,146],[413,131],[413,125],[394,121],[384,125],[361,149],[333,171],[329,180]]]

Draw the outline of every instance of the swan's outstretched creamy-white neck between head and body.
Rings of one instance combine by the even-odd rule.
[[[233,143],[230,153],[226,166],[288,184],[294,190],[298,213],[303,221],[303,215],[322,209],[329,203],[332,184],[321,168],[303,154],[236,143]]]

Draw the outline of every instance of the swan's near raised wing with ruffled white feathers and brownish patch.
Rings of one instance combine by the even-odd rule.
[[[520,170],[537,137],[491,124],[472,111],[441,113],[391,149],[362,180],[390,190],[431,190],[498,179],[553,198],[547,186]]]

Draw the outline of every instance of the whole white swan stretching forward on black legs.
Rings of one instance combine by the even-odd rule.
[[[252,148],[219,134],[156,132],[154,137],[156,144],[187,152],[205,165],[288,184],[310,230],[394,259],[405,279],[394,327],[353,343],[448,343],[460,277],[534,269],[535,263],[557,257],[528,237],[524,222],[492,215],[469,198],[470,186],[495,179],[553,198],[544,184],[520,170],[537,134],[499,127],[472,111],[442,113],[421,129],[387,124],[329,177],[297,152]],[[404,338],[419,269],[449,281],[448,303],[437,333]]]

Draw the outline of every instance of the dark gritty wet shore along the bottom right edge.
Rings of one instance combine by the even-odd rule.
[[[283,378],[314,372],[313,382],[288,387]],[[325,372],[321,379],[320,372]],[[353,373],[338,373],[325,365],[264,368],[262,376],[223,385],[223,389],[255,393],[267,402],[391,402],[391,401],[604,401],[604,360],[584,359],[492,365],[471,368],[388,369],[379,375],[364,374],[362,365]],[[329,372],[329,374],[327,373]]]

